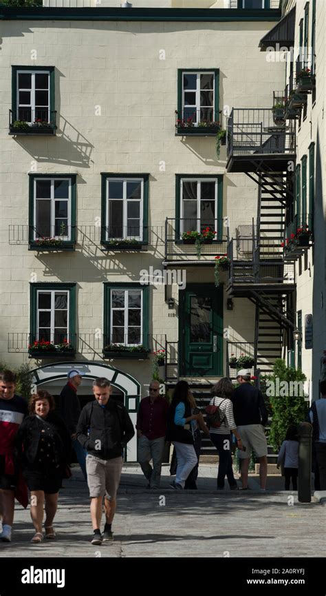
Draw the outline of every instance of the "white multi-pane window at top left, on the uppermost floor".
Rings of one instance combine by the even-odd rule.
[[[16,120],[50,122],[50,72],[17,70]]]

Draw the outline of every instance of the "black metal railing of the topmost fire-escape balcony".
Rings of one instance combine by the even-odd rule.
[[[270,108],[233,108],[228,119],[228,156],[294,153],[293,131],[275,126]]]

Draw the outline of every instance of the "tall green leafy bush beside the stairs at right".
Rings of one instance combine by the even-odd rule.
[[[296,370],[293,367],[287,367],[284,360],[277,358],[273,367],[273,374],[264,376],[261,379],[265,383],[264,387],[261,382],[261,391],[265,393],[266,402],[270,402],[270,408],[272,410],[269,442],[275,451],[279,451],[290,424],[303,422],[307,416],[308,409],[304,395],[269,395],[268,389],[266,389],[267,381],[269,382],[269,387],[270,382],[274,382],[274,387],[277,387],[277,379],[279,379],[279,382],[286,381],[290,384],[291,381],[303,383],[306,377],[302,371]],[[300,391],[296,391],[295,384],[292,393],[300,393]]]

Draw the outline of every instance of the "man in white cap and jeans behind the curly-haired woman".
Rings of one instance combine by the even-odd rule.
[[[76,427],[79,420],[81,408],[80,402],[77,395],[77,389],[82,382],[84,373],[81,373],[77,369],[72,369],[68,372],[68,382],[63,387],[60,394],[59,409],[65,424],[69,430],[72,438],[72,446],[77,456],[78,464],[80,465],[81,471],[83,472],[85,480],[87,480],[86,472],[86,451],[80,445],[80,442],[76,439]]]

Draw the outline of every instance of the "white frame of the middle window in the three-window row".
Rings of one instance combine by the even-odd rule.
[[[123,203],[123,221],[122,221],[122,237],[111,237],[109,236],[109,201],[121,201],[120,198],[109,198],[109,183],[110,182],[122,182],[123,183],[123,196],[122,196],[122,203]],[[138,198],[129,198],[127,199],[127,182],[140,182],[140,199]],[[137,201],[140,203],[140,234],[139,236],[135,236],[135,234],[128,235],[127,234],[127,227],[128,227],[128,217],[127,217],[127,207],[128,203]],[[106,185],[106,221],[105,221],[105,238],[107,241],[109,240],[127,240],[131,238],[135,238],[135,240],[142,241],[144,236],[144,178],[114,178],[114,176],[107,177],[107,185]]]

